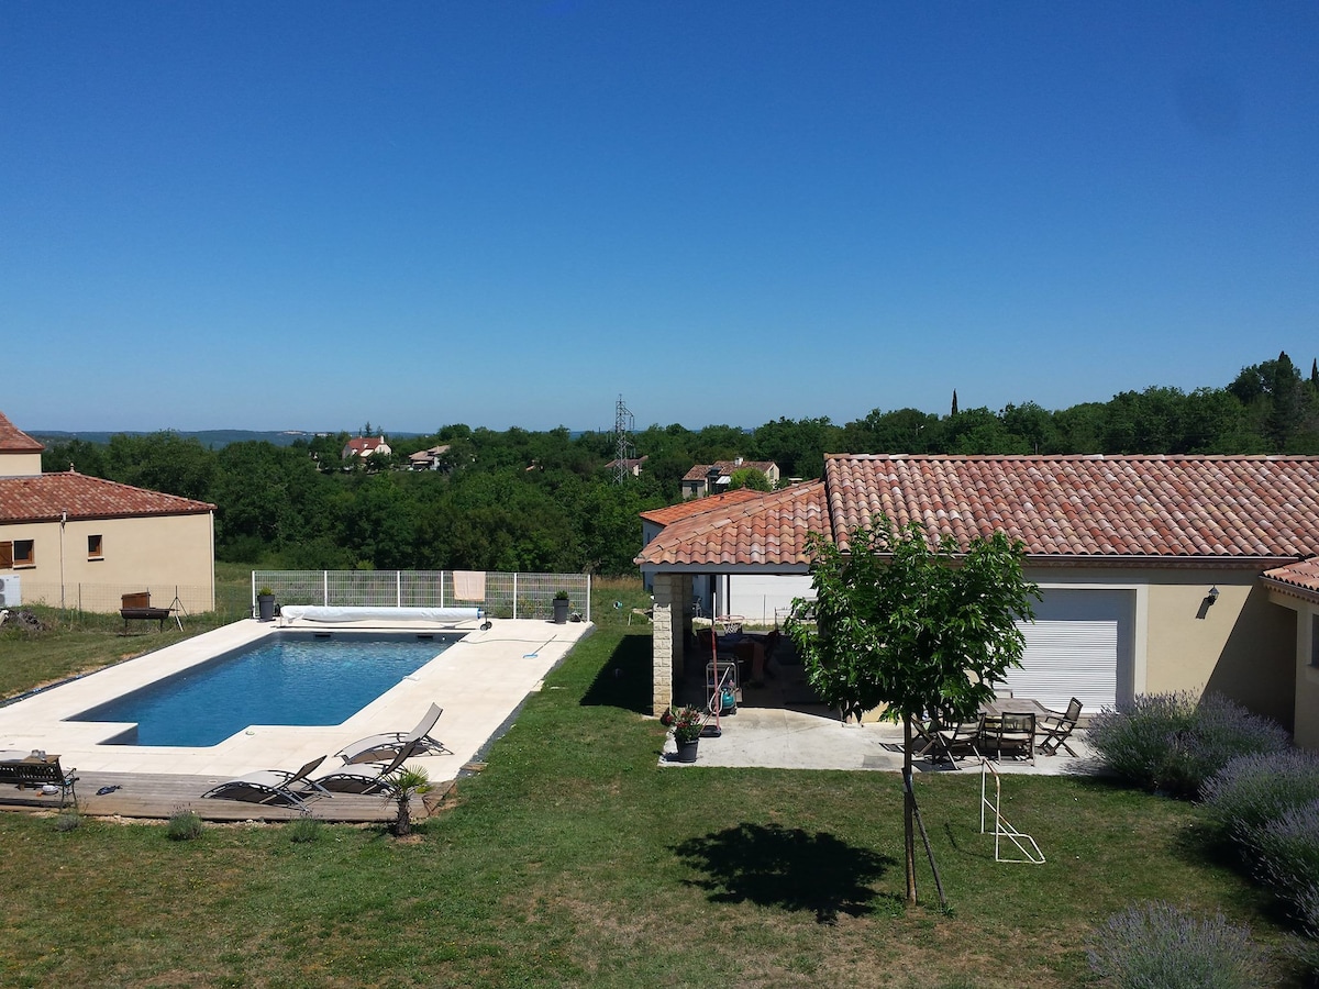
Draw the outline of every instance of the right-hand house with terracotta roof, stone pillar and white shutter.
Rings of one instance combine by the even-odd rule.
[[[665,526],[654,703],[683,673],[695,575],[809,574],[809,533],[844,551],[878,514],[966,547],[1025,547],[1043,600],[1006,687],[1095,711],[1136,694],[1217,691],[1319,748],[1319,458],[830,455],[824,477]]]

